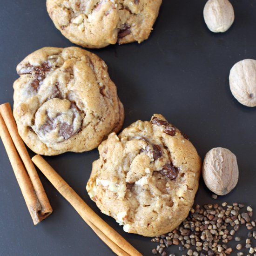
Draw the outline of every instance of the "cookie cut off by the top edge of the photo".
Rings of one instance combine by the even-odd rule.
[[[89,48],[141,43],[158,16],[162,0],[47,0],[47,11],[71,42]]]

